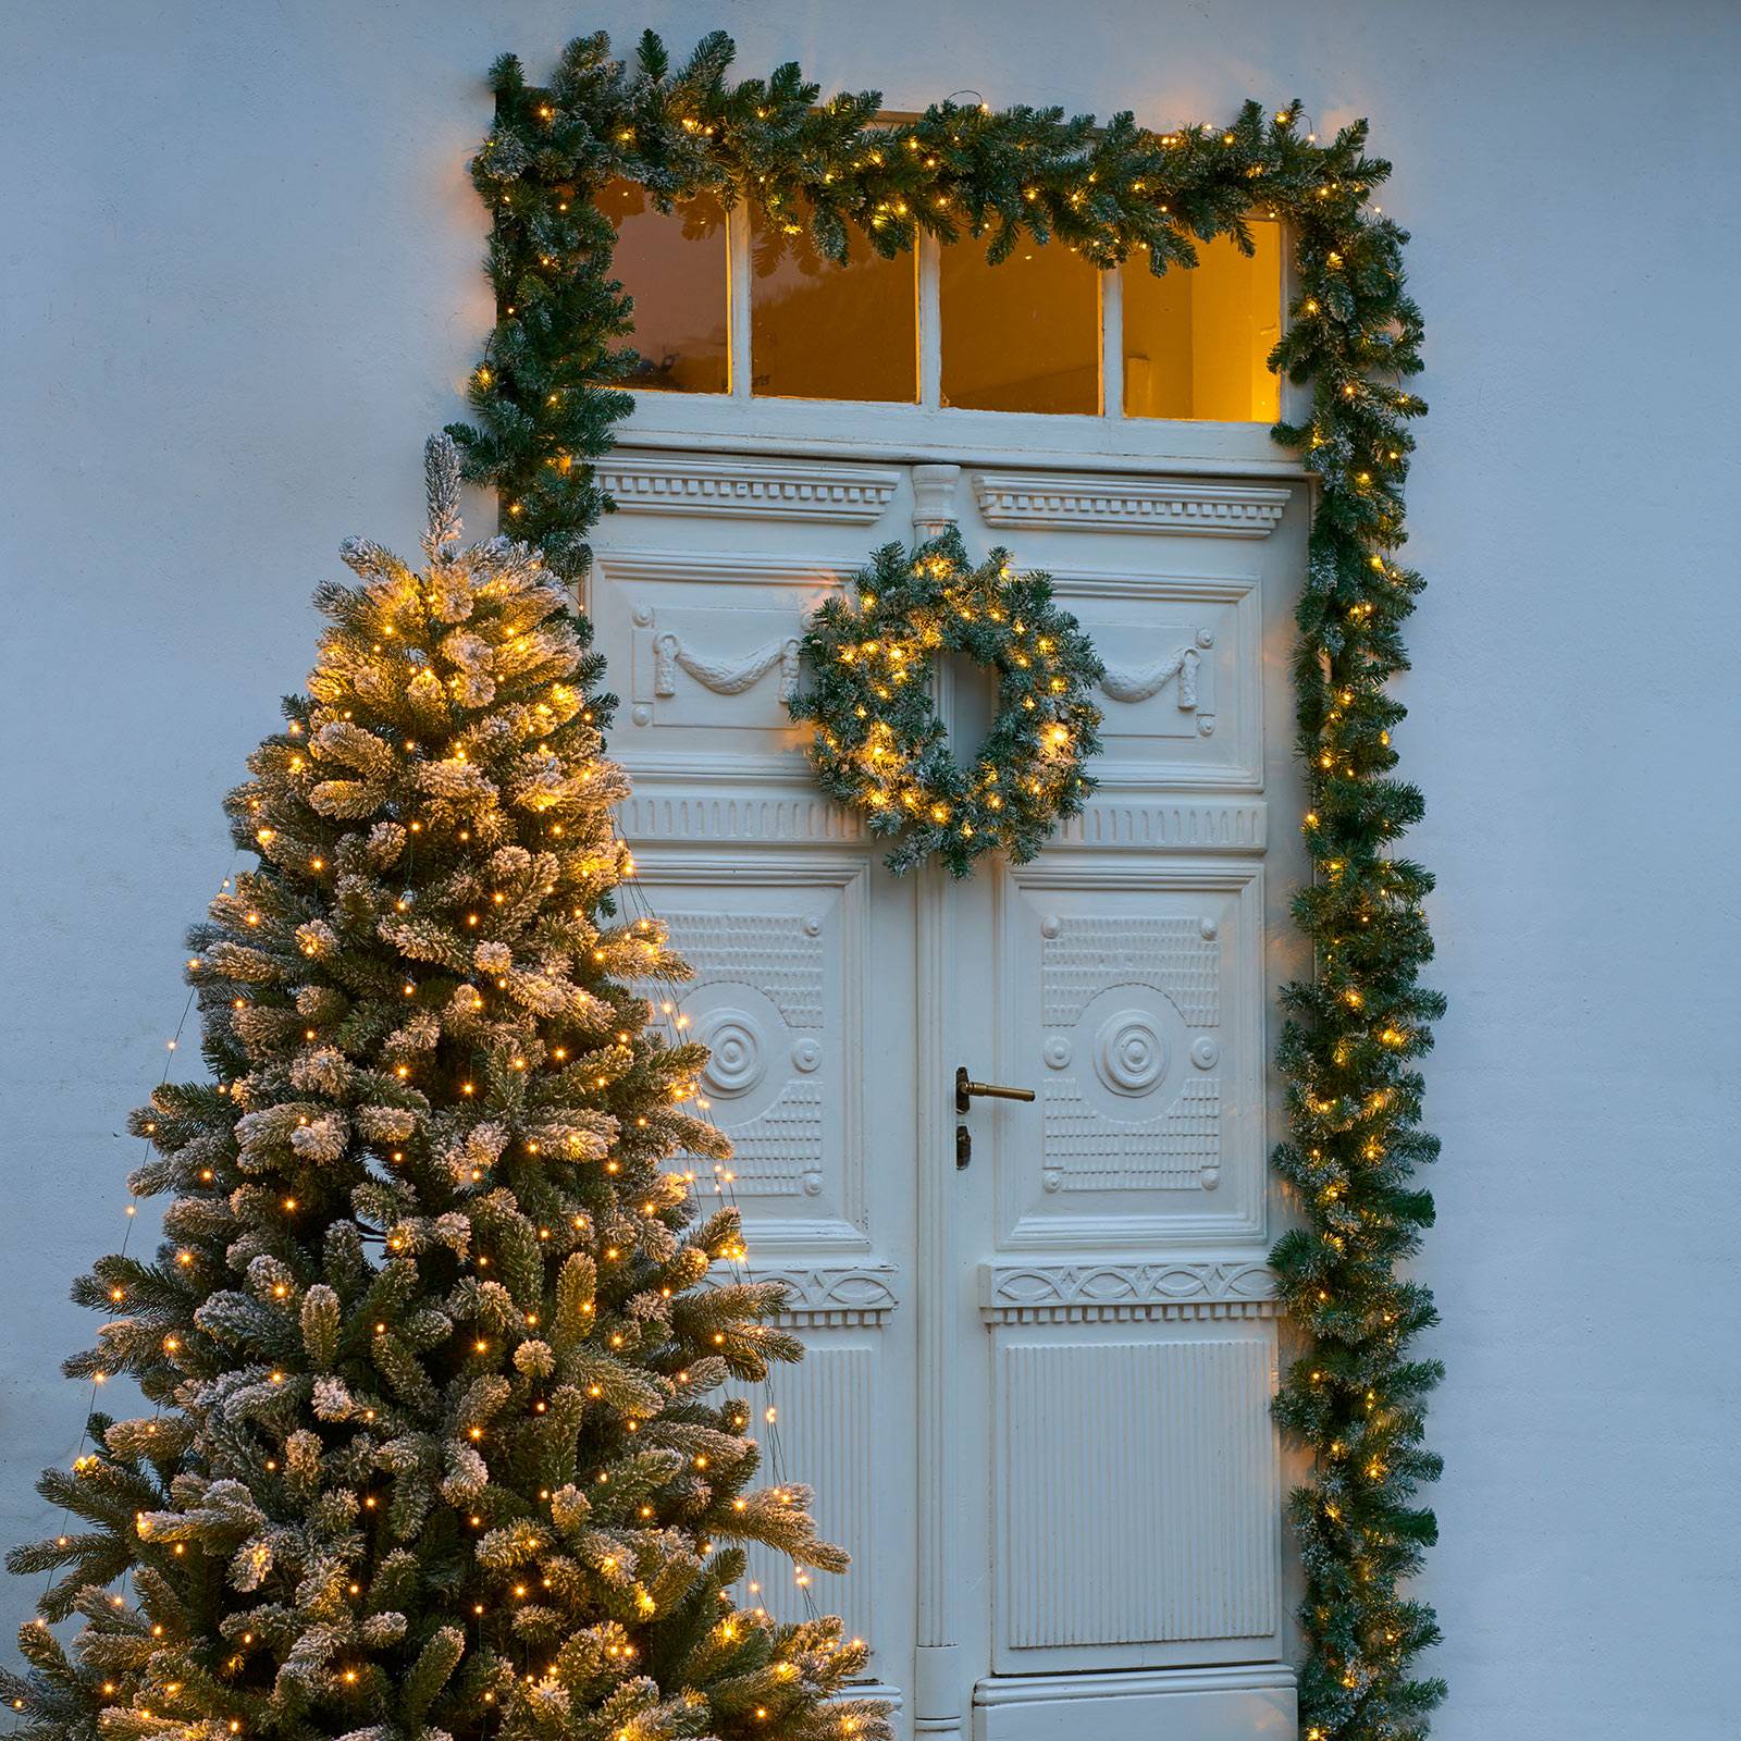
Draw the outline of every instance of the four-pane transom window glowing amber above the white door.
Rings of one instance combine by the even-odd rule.
[[[857,232],[844,266],[803,214],[717,200],[658,211],[632,183],[601,198],[613,272],[635,301],[637,393],[914,404],[933,409],[1273,423],[1269,352],[1281,333],[1280,223],[1257,251],[1226,237],[1165,277],[1024,244],[998,266],[985,242],[883,259]],[[930,310],[930,320],[926,320]],[[935,331],[928,366],[923,334]]]

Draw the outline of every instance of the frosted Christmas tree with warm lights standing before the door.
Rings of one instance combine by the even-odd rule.
[[[613,898],[588,627],[529,548],[461,548],[446,437],[427,472],[428,566],[345,547],[230,794],[214,1079],[134,1114],[165,1243],[73,1290],[110,1321],[68,1372],[151,1412],[44,1476],[5,1697],[42,1741],[879,1741],[864,1645],[731,1593],[742,1543],[846,1556],[729,1393],[799,1354],[780,1290],[663,1165],[726,1147],[644,994],[682,965]]]

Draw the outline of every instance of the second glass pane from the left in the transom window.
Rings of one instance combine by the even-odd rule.
[[[750,392],[770,399],[919,397],[914,256],[883,259],[848,230],[846,265],[817,252],[808,216],[750,212]]]

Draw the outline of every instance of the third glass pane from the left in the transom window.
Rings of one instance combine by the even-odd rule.
[[[944,404],[1100,411],[1100,273],[1062,242],[985,265],[985,242],[942,251]]]

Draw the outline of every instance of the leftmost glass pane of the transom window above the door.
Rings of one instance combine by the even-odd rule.
[[[611,266],[635,299],[629,343],[641,353],[623,385],[637,393],[723,393],[729,385],[726,214],[712,195],[662,212],[635,181],[611,181],[599,209],[616,225]]]

